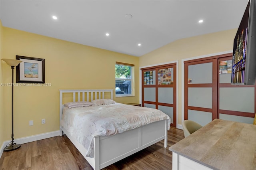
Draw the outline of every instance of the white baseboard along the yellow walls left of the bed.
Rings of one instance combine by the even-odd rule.
[[[42,140],[42,139],[51,138],[51,137],[59,136],[59,135],[60,135],[60,130],[56,130],[56,131],[53,131],[53,132],[36,134],[36,135],[32,135],[32,136],[27,136],[27,137],[24,137],[24,138],[16,138],[16,139],[14,139],[14,142],[18,143],[18,144],[24,144],[24,143],[34,142],[36,140]],[[3,152],[4,152],[4,148],[10,142],[11,142],[11,140],[8,140],[8,141],[5,141],[2,144],[2,146],[0,148],[0,158],[3,154]]]

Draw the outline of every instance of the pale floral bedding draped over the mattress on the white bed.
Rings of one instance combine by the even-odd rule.
[[[82,144],[86,156],[94,157],[93,134],[111,136],[170,117],[160,110],[115,103],[110,105],[63,108],[60,125]]]

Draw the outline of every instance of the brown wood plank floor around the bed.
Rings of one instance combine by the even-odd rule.
[[[171,127],[167,148],[162,140],[103,170],[171,170],[172,152],[168,148],[183,138],[183,130]],[[18,150],[3,152],[0,170],[92,170],[92,167],[64,135],[22,144]]]

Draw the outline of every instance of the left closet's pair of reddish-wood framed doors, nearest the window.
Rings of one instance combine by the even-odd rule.
[[[142,106],[164,112],[176,127],[176,63],[142,70]]]

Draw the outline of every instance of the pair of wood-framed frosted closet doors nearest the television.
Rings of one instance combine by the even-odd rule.
[[[184,62],[184,119],[204,126],[218,118],[252,124],[256,85],[231,85],[232,54]]]

